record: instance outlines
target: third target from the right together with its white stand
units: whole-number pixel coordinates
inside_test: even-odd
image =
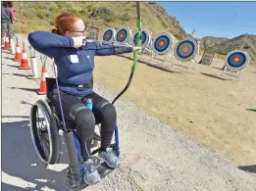
[[[174,63],[174,37],[168,32],[161,32],[152,41],[153,54],[149,64],[156,62],[161,67],[172,67]],[[171,64],[169,66],[168,64]]]

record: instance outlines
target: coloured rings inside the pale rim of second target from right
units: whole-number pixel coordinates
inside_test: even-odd
[[[190,40],[184,40],[181,43],[179,43],[177,47],[177,55],[181,59],[187,59],[191,57],[194,54],[195,47],[194,43]]]

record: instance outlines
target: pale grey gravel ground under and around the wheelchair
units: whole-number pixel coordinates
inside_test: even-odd
[[[19,70],[20,63],[8,58],[13,56],[2,53],[2,188],[70,190],[65,184],[68,161],[64,145],[61,162],[54,166],[44,166],[32,146],[29,110],[31,104],[45,97],[34,92],[39,80],[27,79],[30,71]],[[48,59],[48,74],[52,76],[51,63]],[[116,96],[97,84],[95,91],[109,100]],[[166,122],[146,115],[128,100],[119,100],[116,108],[122,166],[86,190],[256,190],[253,174]]]

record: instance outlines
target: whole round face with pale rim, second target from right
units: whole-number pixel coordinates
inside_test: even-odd
[[[181,62],[194,59],[198,51],[198,44],[192,37],[185,37],[179,41],[175,48],[175,56]]]

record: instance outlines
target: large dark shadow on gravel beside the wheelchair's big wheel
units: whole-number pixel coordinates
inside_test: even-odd
[[[53,165],[49,169],[42,164],[36,156],[30,136],[29,121],[2,122],[2,187],[3,190],[41,190],[49,188],[54,190],[77,190],[71,189],[66,184],[68,155],[63,138],[61,171],[54,170]],[[62,164],[62,165],[61,165]],[[15,181],[8,182],[5,174],[26,181],[26,187],[18,187]],[[12,183],[14,182],[14,183]],[[9,184],[10,183],[10,184]],[[24,184],[24,182],[22,183]],[[35,185],[35,186],[34,186]]]

